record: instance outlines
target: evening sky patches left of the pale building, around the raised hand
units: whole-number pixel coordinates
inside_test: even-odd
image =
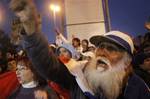
[[[42,32],[48,37],[49,42],[55,41],[53,13],[49,10],[50,0],[34,0],[39,13],[42,16]],[[12,11],[9,9],[10,0],[0,0],[0,12],[3,15],[3,20],[0,22],[0,29],[4,30],[7,34],[11,32],[10,23],[15,17]],[[57,28],[61,27],[61,13],[56,14]]]

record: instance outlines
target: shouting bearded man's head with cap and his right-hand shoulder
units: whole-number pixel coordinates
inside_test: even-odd
[[[120,31],[111,31],[90,39],[96,57],[86,66],[84,74],[95,95],[106,99],[148,99],[147,85],[133,73],[133,42]],[[138,95],[137,95],[138,94]]]

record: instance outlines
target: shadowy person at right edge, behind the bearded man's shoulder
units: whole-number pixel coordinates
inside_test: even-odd
[[[141,50],[135,54],[134,67],[135,73],[139,75],[150,88],[150,42],[146,41],[141,45]]]

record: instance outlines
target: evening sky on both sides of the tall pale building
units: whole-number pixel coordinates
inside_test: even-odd
[[[9,9],[10,0],[0,0],[0,28],[10,33],[10,23],[15,17]],[[150,0],[108,0],[112,30],[127,32],[132,36],[143,35],[146,30],[144,22],[150,15]],[[54,24],[52,12],[48,9],[50,0],[35,0],[39,13],[42,15],[42,31],[49,42],[54,42]],[[57,14],[57,25],[60,27],[61,14]]]

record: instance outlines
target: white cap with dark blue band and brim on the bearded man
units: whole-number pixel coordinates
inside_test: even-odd
[[[134,44],[132,38],[120,31],[110,31],[103,35],[96,35],[90,38],[90,42],[98,46],[101,42],[113,42],[123,47],[129,54],[133,54]]]

